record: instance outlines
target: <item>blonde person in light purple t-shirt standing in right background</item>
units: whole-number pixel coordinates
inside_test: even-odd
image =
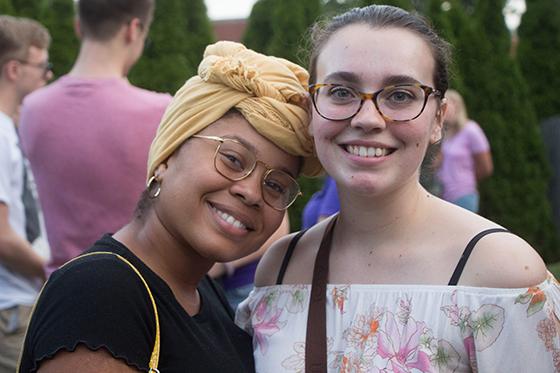
[[[446,98],[446,132],[438,171],[442,198],[478,212],[477,183],[493,172],[490,145],[480,126],[468,118],[465,102],[459,92],[448,90]]]

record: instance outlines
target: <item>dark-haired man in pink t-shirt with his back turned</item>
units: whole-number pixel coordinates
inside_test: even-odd
[[[28,97],[22,144],[45,215],[47,273],[130,221],[148,149],[171,100],[131,85],[155,0],[79,0],[72,70]]]

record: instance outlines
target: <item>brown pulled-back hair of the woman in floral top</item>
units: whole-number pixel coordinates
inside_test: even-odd
[[[370,5],[363,8],[354,8],[331,19],[315,23],[311,28],[310,35],[310,83],[316,83],[317,59],[325,44],[338,30],[354,24],[369,25],[373,29],[402,28],[413,32],[425,40],[430,46],[435,60],[435,88],[445,93],[449,87],[449,63],[451,59],[449,43],[443,40],[422,16],[389,5]]]

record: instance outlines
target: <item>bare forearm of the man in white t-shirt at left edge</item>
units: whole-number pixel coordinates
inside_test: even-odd
[[[45,262],[11,227],[8,206],[0,202],[0,262],[23,276],[45,280]]]

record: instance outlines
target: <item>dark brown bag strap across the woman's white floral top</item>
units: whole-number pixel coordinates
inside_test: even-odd
[[[327,372],[327,279],[332,235],[337,218],[338,216],[332,218],[325,229],[315,258],[309,312],[307,314],[305,373]]]

